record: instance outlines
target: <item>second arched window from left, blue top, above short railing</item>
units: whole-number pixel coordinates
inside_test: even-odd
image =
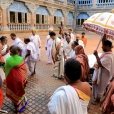
[[[45,6],[39,6],[36,11],[36,24],[49,24],[49,12]]]

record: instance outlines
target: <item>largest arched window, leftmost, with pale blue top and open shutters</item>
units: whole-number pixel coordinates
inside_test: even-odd
[[[23,2],[14,1],[7,12],[8,23],[30,23],[30,13]]]

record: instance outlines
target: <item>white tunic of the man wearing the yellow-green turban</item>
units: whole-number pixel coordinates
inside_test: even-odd
[[[39,55],[40,54],[40,48],[41,47],[41,40],[40,40],[40,36],[39,35],[32,35],[30,37],[31,42],[33,42],[35,44],[35,48],[36,48],[36,52]]]

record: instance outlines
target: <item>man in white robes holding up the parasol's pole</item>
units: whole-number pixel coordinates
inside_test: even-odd
[[[114,76],[114,54],[112,53],[112,42],[109,40],[103,41],[102,49],[104,53],[101,57],[98,56],[97,51],[94,52],[97,64],[94,65],[95,71],[92,78],[93,96],[95,98],[93,104],[98,104],[100,102],[110,79]]]

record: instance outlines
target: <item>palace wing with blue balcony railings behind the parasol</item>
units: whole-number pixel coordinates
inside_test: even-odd
[[[114,0],[76,0],[76,27],[82,28],[83,22],[91,15],[100,12],[111,12]]]

